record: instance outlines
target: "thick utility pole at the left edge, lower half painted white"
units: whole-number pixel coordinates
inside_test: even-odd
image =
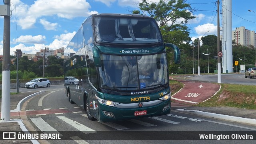
[[[7,6],[4,14],[4,37],[3,37],[3,72],[2,72],[2,121],[10,121],[10,0],[4,0]],[[4,5],[4,6],[5,6]],[[9,10],[8,10],[9,8]],[[1,15],[2,16],[2,15]]]

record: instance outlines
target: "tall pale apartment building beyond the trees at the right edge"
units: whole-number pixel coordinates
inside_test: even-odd
[[[232,31],[233,41],[236,45],[244,45],[249,47],[250,45],[256,47],[256,34],[255,31],[247,30],[244,26],[236,28]]]

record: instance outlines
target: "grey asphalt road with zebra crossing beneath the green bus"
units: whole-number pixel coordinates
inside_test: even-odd
[[[206,118],[177,110],[171,110],[168,115],[137,120],[104,123],[90,121],[86,118],[84,110],[68,101],[62,85],[40,89],[45,93],[29,100],[25,107],[26,115],[22,120],[29,131],[60,133],[64,136],[62,138],[68,139],[48,141],[51,144],[215,144],[220,141],[191,139],[198,136],[197,132],[204,134],[218,131],[219,134],[226,134],[230,131],[235,134],[237,131],[256,131],[254,125]],[[246,144],[254,141],[224,140],[221,142]]]

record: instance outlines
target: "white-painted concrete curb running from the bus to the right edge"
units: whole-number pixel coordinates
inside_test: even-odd
[[[218,118],[218,119],[222,119],[222,120],[230,120],[230,121],[234,121],[234,122],[242,122],[242,123],[246,123],[246,124],[255,124],[256,125],[256,120],[251,119],[251,118],[242,118],[242,117],[238,117],[238,116],[215,114],[215,113],[203,112],[203,111],[199,111],[199,110],[177,109],[176,111],[189,112],[191,114],[206,116],[206,117],[210,117],[210,118]]]

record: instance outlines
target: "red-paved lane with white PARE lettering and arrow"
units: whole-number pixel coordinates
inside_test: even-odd
[[[175,103],[184,103],[189,105],[198,104],[214,96],[220,89],[220,85],[214,83],[186,80],[177,81],[184,83],[184,87],[172,95],[171,99]]]

